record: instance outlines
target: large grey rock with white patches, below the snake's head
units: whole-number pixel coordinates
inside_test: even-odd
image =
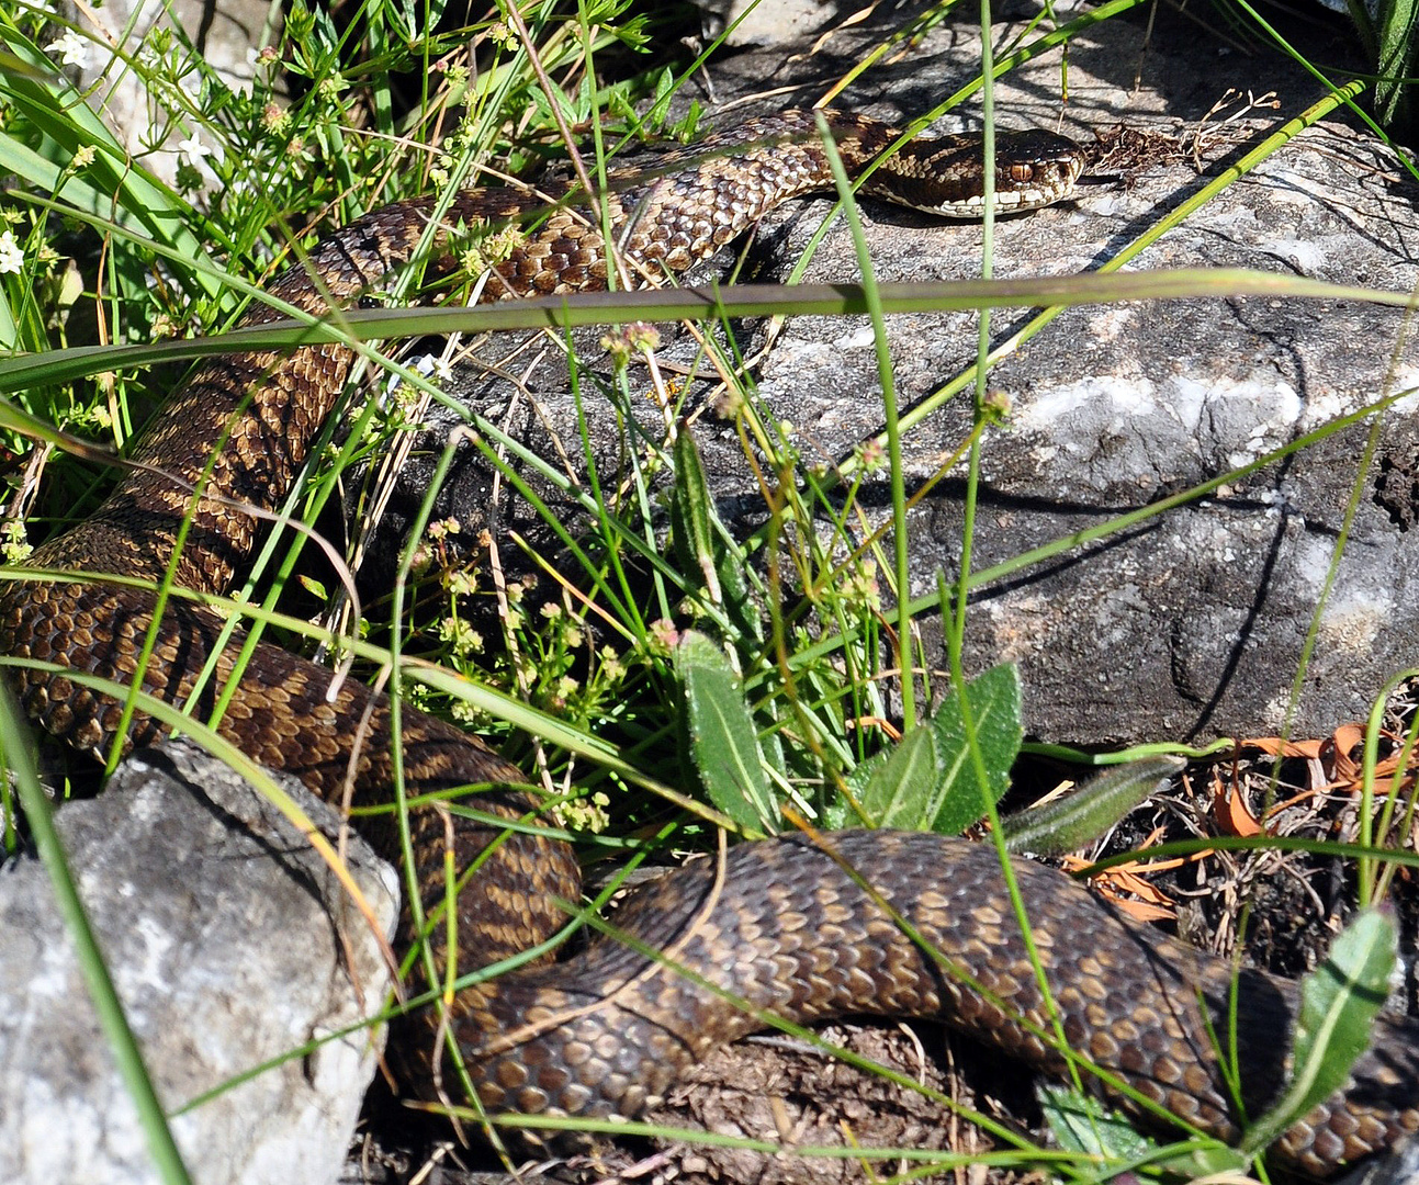
[[[1357,165],[1365,162],[1365,167]],[[1419,280],[1403,247],[1412,207],[1382,179],[1386,149],[1345,128],[1315,128],[1232,186],[1139,258],[1137,267],[1249,267],[1408,291]],[[1374,172],[1366,172],[1372,169]],[[1067,274],[1107,257],[1110,243],[1147,226],[1149,211],[1196,184],[1171,166],[1135,189],[1087,192],[1073,209],[1009,224],[1000,274]],[[789,237],[792,257],[802,238]],[[922,278],[922,257],[969,274],[948,243],[979,231],[922,227],[908,253],[898,228],[868,230],[883,280]],[[937,244],[937,246],[931,246]],[[827,261],[816,260],[807,278]],[[1002,311],[996,341],[1025,324]],[[966,365],[965,315],[894,318],[893,353],[907,399]],[[1250,465],[1297,437],[1415,380],[1410,359],[1389,370],[1403,315],[1374,305],[1223,298],[1074,308],[990,373],[1013,414],[985,441],[973,569],[1098,527],[1171,494]],[[761,396],[823,458],[877,431],[874,359],[863,326],[797,319],[769,356]],[[858,400],[819,392],[858,390]],[[1379,463],[1410,468],[1409,402],[1385,417]],[[907,439],[908,484],[931,478],[966,439],[956,399]],[[1406,534],[1412,491],[1376,501],[1376,467],[1361,475],[1365,427],[1340,430],[1215,494],[982,588],[968,626],[969,666],[1020,663],[1026,722],[1074,742],[1273,734],[1287,697],[1357,481],[1361,505],[1337,583],[1318,622],[1320,644],[1290,727],[1305,735],[1362,718],[1408,640],[1385,630],[1416,605],[1416,552]],[[956,467],[952,478],[964,475]],[[1379,504],[1384,501],[1384,504]],[[959,481],[914,514],[914,595],[954,573],[962,538]],[[885,509],[873,515],[885,518]],[[929,637],[931,623],[927,623]]]

